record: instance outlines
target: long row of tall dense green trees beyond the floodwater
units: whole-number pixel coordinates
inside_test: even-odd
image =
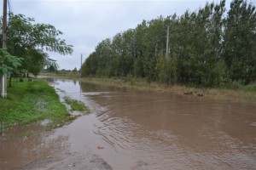
[[[170,26],[166,52],[166,28]],[[167,57],[166,57],[167,54]],[[84,77],[143,77],[207,87],[256,80],[256,10],[246,0],[207,3],[160,16],[107,38],[82,66]]]

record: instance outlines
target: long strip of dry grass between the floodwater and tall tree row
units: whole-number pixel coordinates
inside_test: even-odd
[[[157,91],[160,93],[184,94],[192,92],[195,96],[203,94],[207,99],[230,100],[238,102],[256,102],[256,84],[241,86],[233,84],[231,87],[222,88],[192,88],[181,85],[168,86],[157,82],[148,83],[145,79],[135,77],[119,78],[96,78],[96,77],[56,77],[62,79],[73,79],[81,82],[92,82],[115,87],[136,88],[139,90]]]

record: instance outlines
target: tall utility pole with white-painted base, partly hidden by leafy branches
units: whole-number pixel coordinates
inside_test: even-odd
[[[7,0],[3,0],[3,38],[2,38],[2,49],[6,50],[6,31],[7,31]],[[4,65],[4,63],[3,63]],[[6,88],[6,74],[2,76],[2,93],[3,98],[7,97]]]

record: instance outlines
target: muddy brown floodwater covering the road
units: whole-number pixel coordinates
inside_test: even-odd
[[[2,137],[0,169],[26,169],[63,150],[55,167],[44,161],[43,167],[36,163],[31,169],[71,168],[72,158],[63,158],[67,150],[69,155],[85,153],[84,159],[96,154],[113,169],[256,169],[255,104],[76,81],[51,83],[61,98],[89,105],[91,114],[52,132]],[[20,133],[20,127],[14,131]],[[96,169],[84,166],[73,169]]]

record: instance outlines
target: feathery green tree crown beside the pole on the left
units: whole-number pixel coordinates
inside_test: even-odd
[[[2,20],[0,26],[3,26]],[[73,52],[72,46],[67,45],[65,40],[59,37],[62,34],[55,29],[55,26],[35,23],[34,19],[27,18],[23,14],[9,14],[6,50],[10,55],[22,59],[21,65],[13,67],[12,73],[21,74],[27,71],[37,76],[44,66],[56,70],[58,65],[46,52],[59,54]],[[0,40],[2,41],[1,34]]]

